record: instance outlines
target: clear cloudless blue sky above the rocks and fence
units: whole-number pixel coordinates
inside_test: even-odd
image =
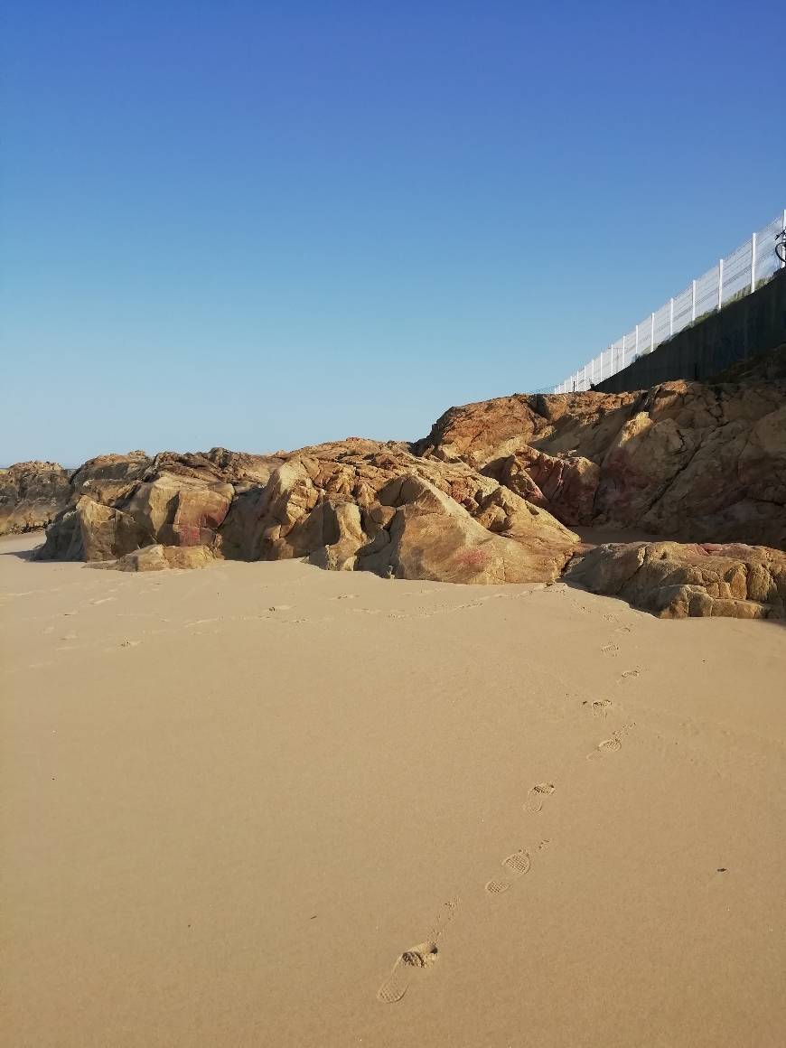
[[[786,206],[783,0],[0,7],[0,463],[416,438]]]

